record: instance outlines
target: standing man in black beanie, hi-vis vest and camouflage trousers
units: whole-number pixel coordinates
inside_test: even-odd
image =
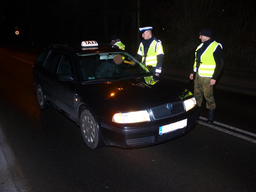
[[[199,38],[202,43],[196,48],[196,59],[189,78],[192,80],[196,75],[194,80],[196,104],[201,107],[204,95],[206,108],[209,109],[207,123],[212,124],[216,108],[213,85],[223,68],[223,51],[222,45],[212,39],[212,31],[209,28],[202,29]]]

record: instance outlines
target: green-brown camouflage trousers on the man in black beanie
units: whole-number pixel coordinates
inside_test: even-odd
[[[203,96],[206,100],[207,109],[215,109],[215,101],[213,97],[213,86],[210,86],[211,77],[201,77],[196,72],[194,96],[198,106],[202,105]]]

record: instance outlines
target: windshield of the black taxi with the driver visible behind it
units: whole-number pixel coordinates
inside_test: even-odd
[[[151,70],[126,52],[80,54],[78,62],[83,81],[149,76]]]

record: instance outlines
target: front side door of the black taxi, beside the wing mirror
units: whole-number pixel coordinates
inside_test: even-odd
[[[73,65],[73,59],[70,54],[63,53],[60,64],[58,67],[57,75],[70,74],[73,81],[60,81],[59,78],[56,80],[54,99],[55,104],[62,110],[66,111],[69,115],[75,117],[75,89],[76,89],[76,77]]]

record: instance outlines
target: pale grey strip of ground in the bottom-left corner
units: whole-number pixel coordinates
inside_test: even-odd
[[[15,158],[0,125],[0,191],[29,191],[18,160]]]

